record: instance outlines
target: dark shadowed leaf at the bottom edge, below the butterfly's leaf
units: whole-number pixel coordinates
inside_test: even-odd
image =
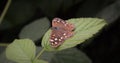
[[[76,48],[57,52],[50,63],[92,63],[86,54]]]

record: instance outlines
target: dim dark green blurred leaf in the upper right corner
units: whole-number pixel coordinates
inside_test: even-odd
[[[104,18],[108,23],[112,23],[117,20],[120,16],[120,0],[112,3],[109,6],[105,6],[96,16]]]

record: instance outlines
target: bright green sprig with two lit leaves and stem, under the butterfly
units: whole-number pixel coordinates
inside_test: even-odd
[[[40,49],[40,52],[38,52],[37,55],[36,46],[32,40],[15,39],[13,43],[8,45],[6,48],[7,58],[18,63],[48,63],[41,58],[44,51],[47,51],[48,53],[52,52],[54,55],[56,52],[75,47],[76,45],[83,43],[86,39],[91,38],[106,24],[105,20],[98,18],[74,18],[67,21],[75,25],[75,34],[73,37],[65,40],[58,48],[52,48],[49,44],[49,37],[51,33],[51,29],[49,29],[42,39],[42,49]]]

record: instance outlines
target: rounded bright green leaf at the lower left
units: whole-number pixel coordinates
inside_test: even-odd
[[[32,40],[16,39],[6,48],[6,56],[9,60],[19,63],[31,63],[35,58],[36,46]]]

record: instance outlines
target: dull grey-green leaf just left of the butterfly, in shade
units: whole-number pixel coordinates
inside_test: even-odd
[[[30,38],[33,41],[40,39],[50,27],[50,22],[47,18],[35,20],[31,24],[25,26],[19,34],[20,38]]]

